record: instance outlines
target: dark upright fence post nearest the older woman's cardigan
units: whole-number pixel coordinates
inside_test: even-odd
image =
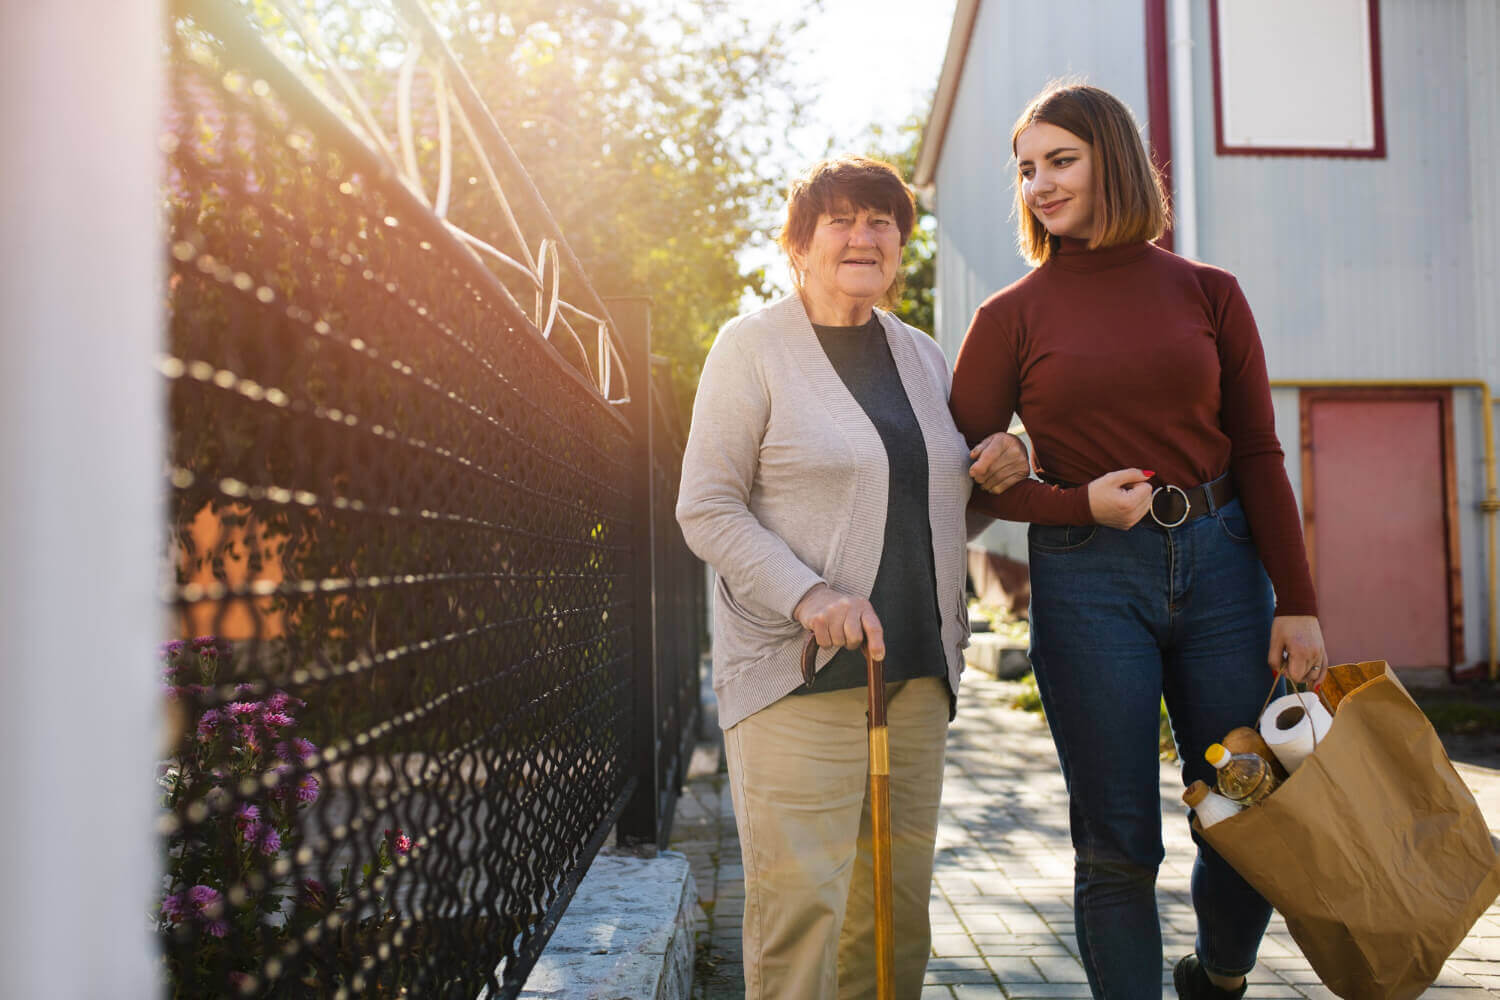
[[[626,376],[630,379],[630,403],[626,415],[633,432],[630,468],[630,511],[633,553],[630,610],[633,637],[630,664],[630,768],[636,777],[636,792],[620,814],[616,837],[622,844],[657,844],[662,835],[662,768],[660,768],[660,676],[657,673],[656,636],[656,456],[651,450],[651,300],[642,295],[606,298],[609,313],[626,345]]]

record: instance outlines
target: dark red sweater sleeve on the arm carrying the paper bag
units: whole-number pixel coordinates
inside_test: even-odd
[[[1230,474],[1245,507],[1276,615],[1317,615],[1296,498],[1276,439],[1266,354],[1250,303],[1233,277],[1216,297],[1220,421],[1230,439]]]

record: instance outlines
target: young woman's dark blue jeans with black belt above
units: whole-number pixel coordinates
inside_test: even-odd
[[[1270,690],[1274,601],[1239,501],[1178,528],[1030,528],[1030,658],[1068,783],[1074,918],[1095,997],[1161,996],[1160,705],[1182,780],[1254,726]],[[1194,837],[1197,840],[1197,837]],[[1198,960],[1256,964],[1270,906],[1212,847],[1192,867]]]

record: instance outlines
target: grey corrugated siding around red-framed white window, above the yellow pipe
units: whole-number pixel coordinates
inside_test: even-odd
[[[1198,253],[1239,277],[1272,378],[1479,373],[1466,6],[1380,4],[1388,156],[1346,159],[1215,154],[1194,4]]]

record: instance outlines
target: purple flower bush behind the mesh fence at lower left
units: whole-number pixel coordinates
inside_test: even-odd
[[[165,643],[160,658],[178,733],[158,775],[172,819],[153,918],[177,945],[166,949],[174,994],[285,993],[258,978],[266,960],[330,913],[354,909],[366,916],[344,924],[342,940],[306,963],[300,982],[282,984],[314,993],[340,985],[357,964],[357,939],[396,916],[378,880],[411,852],[411,838],[387,829],[375,856],[358,873],[345,865],[332,885],[296,877],[297,813],[322,792],[308,772],[318,747],[297,735],[306,705],[264,685],[225,684],[231,648],[214,636]]]

